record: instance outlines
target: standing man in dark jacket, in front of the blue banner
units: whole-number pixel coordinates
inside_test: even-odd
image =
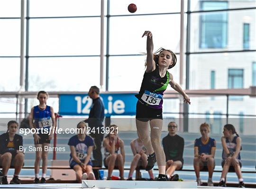
[[[105,108],[103,101],[100,97],[100,89],[98,87],[91,86],[88,95],[92,99],[92,105],[89,113],[89,118],[85,119],[84,122],[88,123],[89,127],[91,128],[90,135],[94,139],[95,148],[92,151],[92,155],[95,161],[93,162],[93,165],[96,167],[101,167],[101,143],[104,137],[104,127],[102,125],[102,122],[105,117]]]

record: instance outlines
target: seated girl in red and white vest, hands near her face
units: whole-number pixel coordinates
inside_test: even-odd
[[[111,180],[111,176],[114,168],[119,169],[120,180],[125,180],[124,179],[124,162],[125,162],[124,142],[118,137],[117,127],[118,126],[116,125],[111,125],[110,134],[108,134],[103,140],[103,146],[105,148],[105,153],[104,153],[105,158],[103,162],[104,162],[104,166],[108,169],[107,180]]]

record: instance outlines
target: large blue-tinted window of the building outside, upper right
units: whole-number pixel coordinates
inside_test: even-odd
[[[227,1],[201,1],[201,10],[213,7],[227,9]],[[225,48],[228,37],[228,13],[218,12],[200,16],[200,48]]]

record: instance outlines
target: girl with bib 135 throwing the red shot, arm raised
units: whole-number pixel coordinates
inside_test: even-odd
[[[150,31],[145,31],[146,40],[146,71],[143,76],[136,107],[136,126],[142,143],[149,153],[146,171],[153,169],[157,162],[158,180],[165,181],[165,153],[161,147],[161,132],[163,126],[162,105],[163,95],[170,84],[171,87],[183,95],[184,102],[190,104],[189,96],[174,81],[173,75],[167,71],[174,67],[177,58],[171,50],[160,48],[153,53],[153,37]],[[149,136],[148,123],[151,128]]]

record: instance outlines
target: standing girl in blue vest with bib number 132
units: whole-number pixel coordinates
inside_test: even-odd
[[[47,171],[47,160],[48,151],[45,151],[45,146],[49,147],[50,141],[53,138],[53,129],[55,128],[55,115],[53,107],[47,106],[46,101],[49,95],[46,91],[39,91],[37,93],[37,99],[39,100],[39,105],[31,109],[29,115],[29,125],[30,128],[35,128],[38,130],[38,134],[34,134],[34,143],[36,149],[42,149],[36,151],[36,161],[35,161],[35,180],[34,183],[39,183],[39,169],[40,161],[43,160],[42,164],[42,178],[40,183],[46,183],[46,171]],[[51,121],[52,119],[52,121]],[[33,123],[34,120],[34,123]],[[51,124],[52,123],[52,124]]]

